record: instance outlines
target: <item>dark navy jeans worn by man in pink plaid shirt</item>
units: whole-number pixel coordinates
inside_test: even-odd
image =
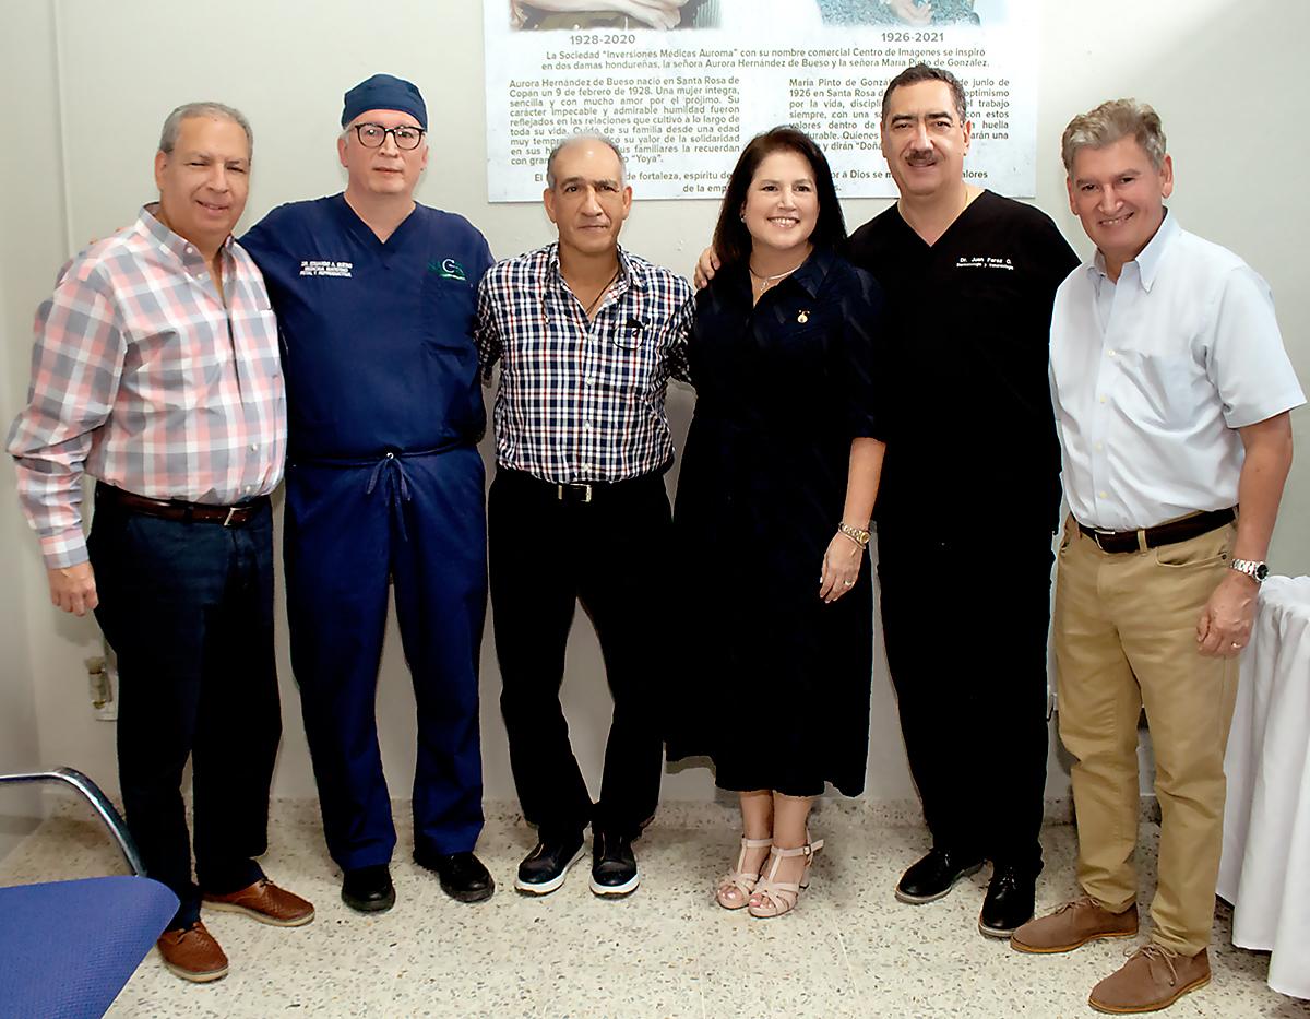
[[[241,528],[160,520],[98,500],[88,541],[96,618],[118,655],[118,777],[145,871],[177,893],[259,880],[282,736],[272,650],[272,512]],[[191,758],[195,876],[182,803]]]

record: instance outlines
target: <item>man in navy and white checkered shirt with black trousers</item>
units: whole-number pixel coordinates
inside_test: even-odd
[[[664,390],[684,372],[692,289],[618,246],[633,191],[607,139],[557,147],[546,185],[558,242],[494,266],[478,291],[479,360],[486,373],[500,361],[487,507],[500,709],[540,837],[515,887],[559,888],[590,823],[592,892],[627,895],[639,881],[631,842],[655,813],[663,764],[650,695],[672,527]],[[578,599],[614,695],[595,807],[559,706]]]

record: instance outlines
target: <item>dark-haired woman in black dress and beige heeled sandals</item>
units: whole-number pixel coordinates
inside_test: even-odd
[[[824,783],[865,785],[882,295],[837,254],[845,237],[814,140],[758,135],[728,181],[722,269],[688,342],[697,402],[675,529],[703,707],[677,720],[669,757],[709,754],[740,794],[741,850],[717,899],[757,917],[790,912],[808,883]]]

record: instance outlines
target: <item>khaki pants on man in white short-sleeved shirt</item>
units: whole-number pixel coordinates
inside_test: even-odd
[[[1056,576],[1060,739],[1077,758],[1078,883],[1114,912],[1137,899],[1137,718],[1146,709],[1161,807],[1153,940],[1209,944],[1224,834],[1224,748],[1237,659],[1196,650],[1196,621],[1225,576],[1237,527],[1104,553],[1065,523]]]

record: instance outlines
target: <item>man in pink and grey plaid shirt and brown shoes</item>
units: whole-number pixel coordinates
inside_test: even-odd
[[[159,203],[69,262],[37,312],[29,401],[8,441],[51,601],[94,610],[118,654],[127,825],[147,874],[178,896],[159,948],[191,981],[228,971],[202,897],[276,926],[314,916],[254,859],[282,735],[269,492],[287,415],[269,295],[232,240],[250,149],[231,107],[169,115]],[[86,540],[84,474],[98,479]]]

